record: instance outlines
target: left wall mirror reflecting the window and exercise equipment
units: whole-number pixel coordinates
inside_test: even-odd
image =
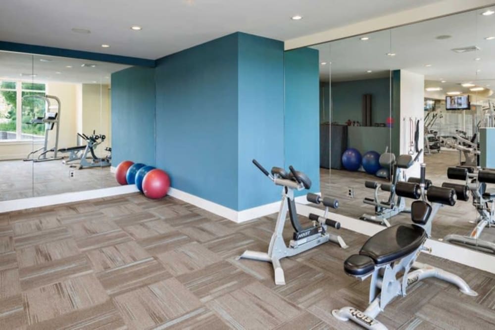
[[[111,83],[126,65],[0,52],[0,200],[117,185]]]

